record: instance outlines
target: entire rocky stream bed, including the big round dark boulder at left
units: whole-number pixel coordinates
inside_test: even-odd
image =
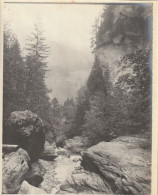
[[[13,113],[9,125],[19,139],[3,145],[3,194],[150,194],[149,137],[122,136],[89,148],[77,137],[56,148],[37,144],[44,127],[29,111]]]

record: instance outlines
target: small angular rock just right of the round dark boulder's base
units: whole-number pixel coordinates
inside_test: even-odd
[[[58,156],[54,146],[45,145],[44,151],[40,154],[40,159],[52,161]]]

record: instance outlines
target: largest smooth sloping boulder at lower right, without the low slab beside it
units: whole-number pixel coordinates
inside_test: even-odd
[[[101,142],[82,153],[82,165],[99,174],[114,194],[150,194],[151,151],[148,141],[122,137]],[[148,145],[148,144],[147,144]]]

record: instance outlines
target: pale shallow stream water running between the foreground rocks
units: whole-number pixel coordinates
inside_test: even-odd
[[[46,173],[44,181],[39,187],[47,193],[55,194],[75,168],[80,166],[79,158],[79,155],[73,155],[70,158],[59,155],[52,162],[42,160],[41,162],[46,169]]]

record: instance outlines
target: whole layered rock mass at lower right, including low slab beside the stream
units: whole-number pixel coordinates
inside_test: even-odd
[[[82,152],[85,170],[75,171],[61,192],[149,195],[151,155],[146,143],[122,137],[87,149]]]

